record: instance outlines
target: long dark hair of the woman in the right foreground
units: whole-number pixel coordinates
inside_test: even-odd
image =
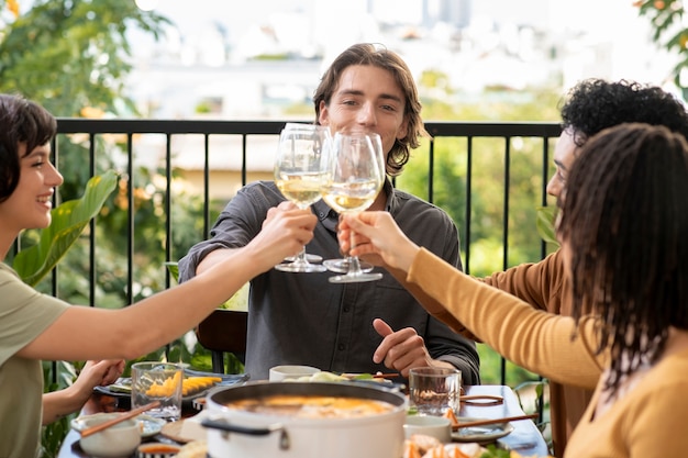
[[[581,148],[559,205],[574,319],[600,315],[606,383],[662,355],[688,329],[688,144],[664,126],[622,124]]]

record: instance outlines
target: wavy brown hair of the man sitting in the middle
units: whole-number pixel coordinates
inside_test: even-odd
[[[419,137],[429,137],[430,134],[425,131],[421,119],[421,102],[413,75],[403,59],[396,53],[370,43],[359,43],[340,54],[330,65],[320,80],[318,89],[315,89],[313,96],[315,122],[320,118],[320,102],[324,101],[326,105],[330,104],[342,72],[352,65],[373,65],[389,71],[403,91],[406,98],[403,115],[406,122],[409,123],[409,129],[406,137],[397,139],[387,156],[387,174],[392,177],[397,176],[401,174],[403,166],[409,161],[410,148],[418,148],[420,145]]]

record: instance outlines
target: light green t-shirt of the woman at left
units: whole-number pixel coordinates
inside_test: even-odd
[[[37,455],[43,414],[43,370],[16,351],[45,331],[67,303],[41,294],[0,262],[0,458]]]

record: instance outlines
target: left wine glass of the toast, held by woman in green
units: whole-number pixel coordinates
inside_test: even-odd
[[[287,123],[279,135],[275,185],[299,209],[308,209],[322,198],[329,177],[330,145],[330,131],[322,125]],[[309,262],[306,247],[293,261],[279,264],[275,268],[286,272],[328,270],[325,266]]]

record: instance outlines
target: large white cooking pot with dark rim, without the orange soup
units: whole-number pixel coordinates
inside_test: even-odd
[[[207,400],[210,458],[399,458],[403,455],[406,396],[377,383],[251,382],[213,391]],[[300,418],[229,409],[233,401],[275,394],[384,401],[385,413],[353,418]]]

